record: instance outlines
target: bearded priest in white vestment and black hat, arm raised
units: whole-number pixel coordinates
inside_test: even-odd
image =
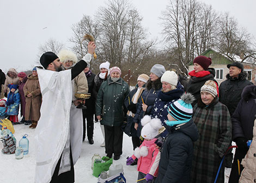
[[[38,69],[42,93],[41,117],[35,129],[35,183],[75,182],[74,165],[81,153],[82,111],[72,101],[72,82],[92,60],[95,43],[71,69],[62,71],[56,54],[46,52],[40,58],[46,70]]]

